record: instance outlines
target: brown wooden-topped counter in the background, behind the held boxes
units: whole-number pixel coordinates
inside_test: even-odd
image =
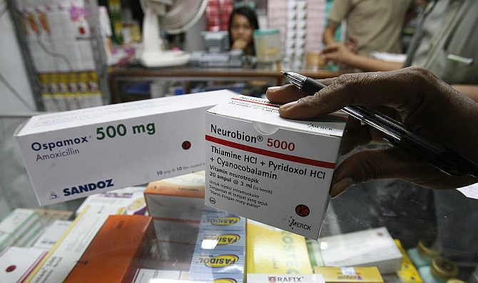
[[[301,73],[315,79],[340,74],[327,70]],[[259,96],[268,86],[284,83],[279,69],[145,68],[138,65],[113,69],[108,80],[113,103],[224,88]]]

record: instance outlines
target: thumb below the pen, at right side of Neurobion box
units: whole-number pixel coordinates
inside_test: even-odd
[[[332,198],[337,197],[352,184],[372,179],[415,180],[436,174],[437,169],[427,162],[422,162],[397,147],[370,149],[353,154],[335,169],[330,195]]]

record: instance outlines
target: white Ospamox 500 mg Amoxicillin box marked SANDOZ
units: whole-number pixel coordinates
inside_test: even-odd
[[[231,91],[32,117],[16,134],[39,204],[204,169],[205,111]]]

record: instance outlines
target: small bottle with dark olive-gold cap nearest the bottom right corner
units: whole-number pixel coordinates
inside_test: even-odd
[[[457,264],[444,257],[434,257],[432,264],[418,269],[424,283],[447,283],[458,274]]]

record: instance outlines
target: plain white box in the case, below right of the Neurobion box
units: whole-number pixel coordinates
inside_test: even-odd
[[[375,266],[388,274],[402,264],[402,254],[385,227],[324,237],[319,245],[325,266]]]

